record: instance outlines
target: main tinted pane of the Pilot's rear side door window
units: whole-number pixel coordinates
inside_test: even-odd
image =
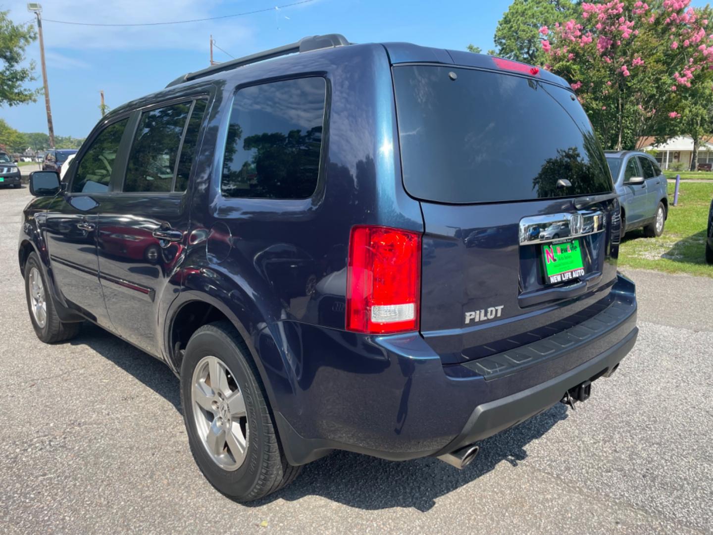
[[[129,153],[124,191],[170,191],[190,102],[141,114]]]

